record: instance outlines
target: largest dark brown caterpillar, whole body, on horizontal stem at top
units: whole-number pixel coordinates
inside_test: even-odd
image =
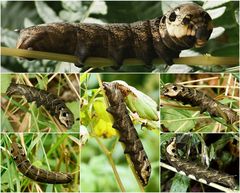
[[[199,5],[180,5],[164,16],[122,24],[52,23],[20,31],[17,48],[73,54],[78,67],[92,57],[113,59],[120,67],[126,58],[148,66],[156,57],[168,65],[184,49],[203,46],[212,33],[212,19]]]

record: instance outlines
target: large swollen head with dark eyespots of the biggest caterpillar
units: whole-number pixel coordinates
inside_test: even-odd
[[[160,29],[164,36],[184,48],[201,47],[209,39],[212,30],[212,19],[204,9],[193,3],[183,4],[169,11],[161,19],[165,30]]]

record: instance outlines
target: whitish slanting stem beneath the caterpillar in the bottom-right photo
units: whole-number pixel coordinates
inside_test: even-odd
[[[171,170],[171,171],[173,171],[173,172],[175,172],[175,173],[179,173],[179,172],[176,170],[176,168],[174,168],[174,167],[172,167],[172,166],[170,166],[170,165],[167,165],[167,164],[165,164],[165,163],[163,163],[163,162],[160,162],[160,166],[163,167],[163,168],[166,168],[166,169],[168,169],[168,170]],[[184,175],[184,176],[187,176],[187,175],[184,174],[184,173],[179,173],[179,174]],[[205,180],[202,180],[202,179],[197,180],[197,179],[194,178],[194,176],[191,176],[191,175],[189,175],[189,176],[187,176],[187,177],[190,178],[190,179],[192,179],[192,180],[195,180],[195,181],[198,181],[198,182],[200,182],[200,183],[203,183],[203,184],[206,184],[206,185],[208,185],[208,186],[211,186],[211,187],[213,187],[213,188],[216,188],[216,189],[218,189],[218,190],[224,191],[224,192],[229,192],[229,193],[237,192],[237,191],[234,191],[234,190],[232,190],[232,189],[229,189],[229,188],[226,188],[226,187],[224,187],[224,186],[221,186],[221,185],[219,185],[219,184],[213,183],[213,182],[210,182],[210,183],[208,184]]]

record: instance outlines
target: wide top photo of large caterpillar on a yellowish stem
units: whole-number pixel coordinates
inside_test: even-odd
[[[5,1],[2,67],[34,73],[238,71],[238,9],[238,1]]]

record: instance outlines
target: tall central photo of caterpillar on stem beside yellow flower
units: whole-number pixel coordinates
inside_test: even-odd
[[[81,74],[80,84],[81,191],[159,192],[159,75]]]

